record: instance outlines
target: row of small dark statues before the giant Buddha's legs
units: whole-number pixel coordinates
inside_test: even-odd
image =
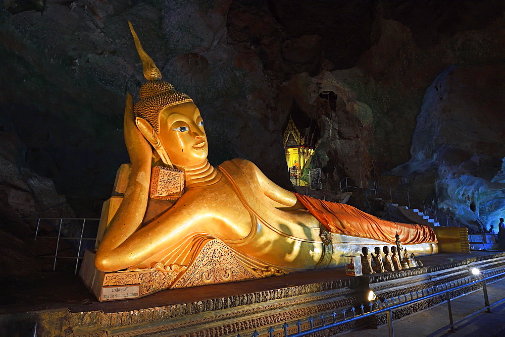
[[[382,250],[384,252],[384,258],[381,257],[380,247],[375,247],[375,255],[374,253],[371,253],[370,255],[372,255],[372,258],[370,258],[368,255],[368,248],[362,248],[363,254],[361,255],[361,265],[364,274],[409,269],[423,265],[421,260],[416,261],[414,253],[409,256],[407,248],[403,249],[403,257],[399,256],[396,246],[391,247],[391,254],[389,253],[388,246],[382,247]],[[372,260],[375,264],[374,266],[372,266]]]

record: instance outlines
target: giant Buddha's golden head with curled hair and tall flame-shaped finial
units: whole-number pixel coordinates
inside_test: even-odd
[[[128,24],[147,79],[134,106],[138,129],[168,166],[188,167],[205,162],[209,148],[200,111],[188,95],[161,81],[160,70]]]

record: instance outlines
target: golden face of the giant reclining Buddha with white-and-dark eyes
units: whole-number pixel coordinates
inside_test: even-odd
[[[161,111],[158,137],[176,166],[194,166],[207,159],[209,147],[203,120],[192,102],[168,106]]]

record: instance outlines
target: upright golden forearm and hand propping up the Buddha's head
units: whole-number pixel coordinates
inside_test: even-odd
[[[147,206],[152,150],[135,125],[130,94],[126,98],[124,135],[132,162],[130,180],[123,201],[96,251],[95,264],[100,270],[108,263],[110,253],[138,230]]]

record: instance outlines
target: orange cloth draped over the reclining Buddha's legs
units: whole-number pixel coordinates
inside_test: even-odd
[[[402,244],[437,242],[435,233],[428,226],[386,221],[349,205],[295,194],[331,233],[394,243],[398,232]]]

